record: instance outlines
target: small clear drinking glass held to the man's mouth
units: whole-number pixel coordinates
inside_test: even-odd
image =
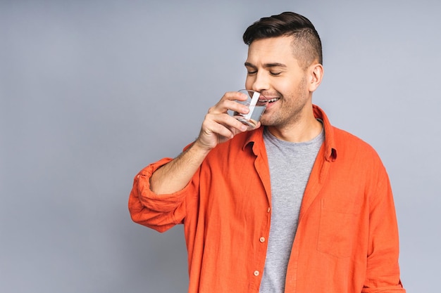
[[[247,100],[237,100],[237,103],[247,105],[249,108],[249,112],[247,114],[233,112],[232,116],[243,124],[254,128],[259,122],[263,112],[265,112],[268,100],[266,100],[265,97],[261,96],[258,91],[253,91],[251,89],[241,89],[239,90],[239,92],[246,94],[248,98]]]

